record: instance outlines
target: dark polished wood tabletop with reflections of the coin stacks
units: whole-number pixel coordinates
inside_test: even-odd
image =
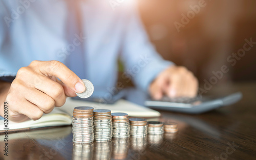
[[[163,112],[164,122],[177,122],[176,134],[115,139],[73,146],[71,126],[9,134],[9,156],[0,159],[255,159],[256,84],[214,87],[211,93],[242,91],[236,104],[201,115]]]

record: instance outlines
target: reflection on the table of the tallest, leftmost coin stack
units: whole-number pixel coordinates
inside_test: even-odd
[[[73,143],[73,160],[76,159],[92,159],[93,158],[93,148],[94,144],[86,143]]]

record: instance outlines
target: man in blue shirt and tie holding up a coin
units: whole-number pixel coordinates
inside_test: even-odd
[[[6,101],[13,121],[62,106],[86,90],[82,78],[112,88],[118,59],[122,78],[155,99],[197,93],[193,73],[157,54],[134,1],[0,0],[0,18],[0,115]]]

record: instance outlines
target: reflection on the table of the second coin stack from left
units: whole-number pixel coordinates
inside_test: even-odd
[[[94,143],[94,158],[93,159],[111,159],[111,141],[110,142],[95,142]]]

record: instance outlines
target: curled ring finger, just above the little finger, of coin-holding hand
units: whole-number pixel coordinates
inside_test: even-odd
[[[25,99],[38,106],[44,113],[52,112],[55,106],[55,100],[52,97],[35,88],[29,89]]]

